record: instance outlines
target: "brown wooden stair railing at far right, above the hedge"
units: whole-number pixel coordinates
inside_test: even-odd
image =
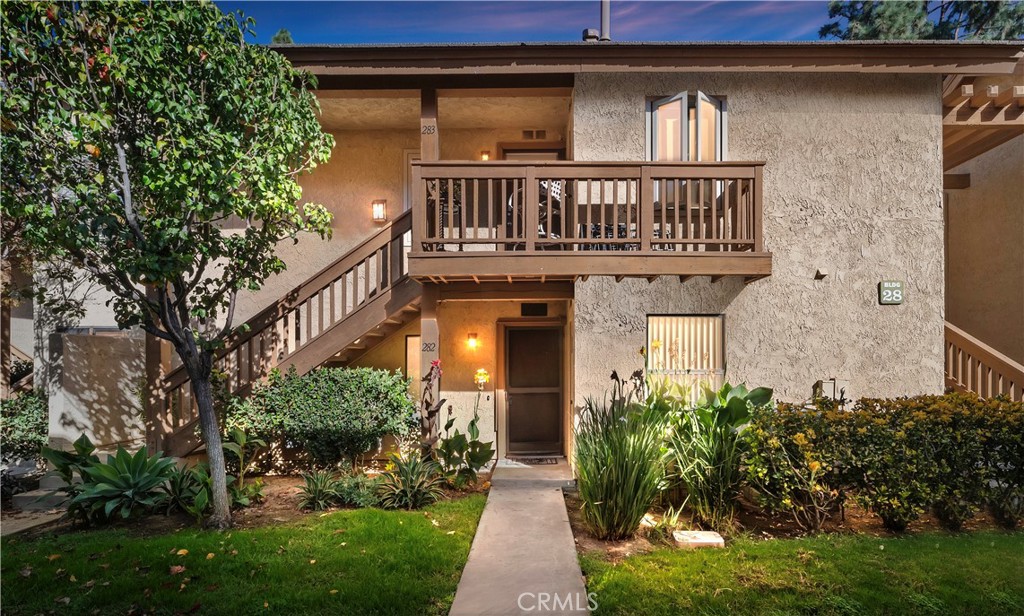
[[[956,325],[945,327],[946,387],[986,398],[1024,399],[1024,365],[999,353]]]

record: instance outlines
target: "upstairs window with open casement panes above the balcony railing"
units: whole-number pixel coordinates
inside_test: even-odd
[[[725,100],[703,92],[680,92],[647,103],[651,161],[724,161]]]

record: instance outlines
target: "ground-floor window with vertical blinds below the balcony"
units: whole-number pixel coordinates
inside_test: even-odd
[[[718,389],[725,378],[725,317],[647,316],[647,373],[690,389]]]

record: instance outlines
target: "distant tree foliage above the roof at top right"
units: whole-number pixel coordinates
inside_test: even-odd
[[[835,20],[818,31],[823,39],[1009,40],[1024,37],[1024,3],[1018,1],[831,0],[828,17]]]

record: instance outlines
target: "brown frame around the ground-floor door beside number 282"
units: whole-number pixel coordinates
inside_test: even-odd
[[[566,340],[565,340],[565,319],[562,317],[521,317],[498,319],[497,322],[497,375],[495,377],[495,429],[498,431],[498,459],[508,457],[509,454],[509,416],[508,416],[508,389],[506,386],[508,369],[508,356],[506,348],[506,336],[509,329],[537,329],[551,328],[558,329],[558,355],[561,362],[559,370],[558,385],[561,390],[560,404],[561,416],[559,417],[558,454],[567,455],[566,446],[568,436],[566,435],[566,416],[568,409],[568,384],[565,382]]]

